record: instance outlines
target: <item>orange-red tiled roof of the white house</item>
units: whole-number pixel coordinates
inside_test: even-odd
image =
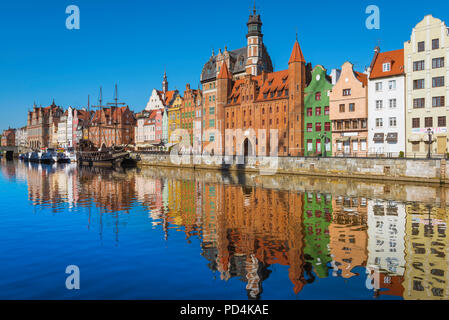
[[[391,77],[404,74],[404,49],[380,52],[376,55],[370,79]],[[383,71],[383,64],[390,62],[390,71]]]

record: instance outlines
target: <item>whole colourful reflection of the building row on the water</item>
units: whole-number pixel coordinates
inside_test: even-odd
[[[2,173],[25,175],[29,199],[55,212],[96,206],[100,217],[109,213],[117,235],[120,215],[140,206],[166,239],[171,229],[182,230],[188,241],[198,237],[208,267],[222,280],[240,279],[251,299],[261,296],[273,265],[288,268],[295,294],[316,278],[365,277],[354,270],[362,267],[378,270],[377,295],[449,298],[448,212],[435,205],[429,216],[421,204],[214,183],[195,175],[181,180],[144,170],[19,164],[2,166]]]

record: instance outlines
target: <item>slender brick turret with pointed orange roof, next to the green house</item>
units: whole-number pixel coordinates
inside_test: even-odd
[[[300,156],[304,152],[304,89],[306,88],[306,61],[298,39],[288,61],[289,91],[289,154]]]

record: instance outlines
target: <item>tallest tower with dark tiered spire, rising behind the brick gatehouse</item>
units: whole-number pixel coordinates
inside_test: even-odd
[[[260,15],[256,14],[256,5],[254,4],[253,14],[249,16],[247,39],[247,60],[246,60],[246,74],[252,74],[257,76],[262,72],[262,47],[263,47],[263,34],[262,34],[262,20]]]

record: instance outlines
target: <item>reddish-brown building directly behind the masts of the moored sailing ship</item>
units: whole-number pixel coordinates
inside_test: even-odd
[[[97,147],[134,144],[135,123],[134,113],[128,106],[102,107],[92,118],[90,140]]]

